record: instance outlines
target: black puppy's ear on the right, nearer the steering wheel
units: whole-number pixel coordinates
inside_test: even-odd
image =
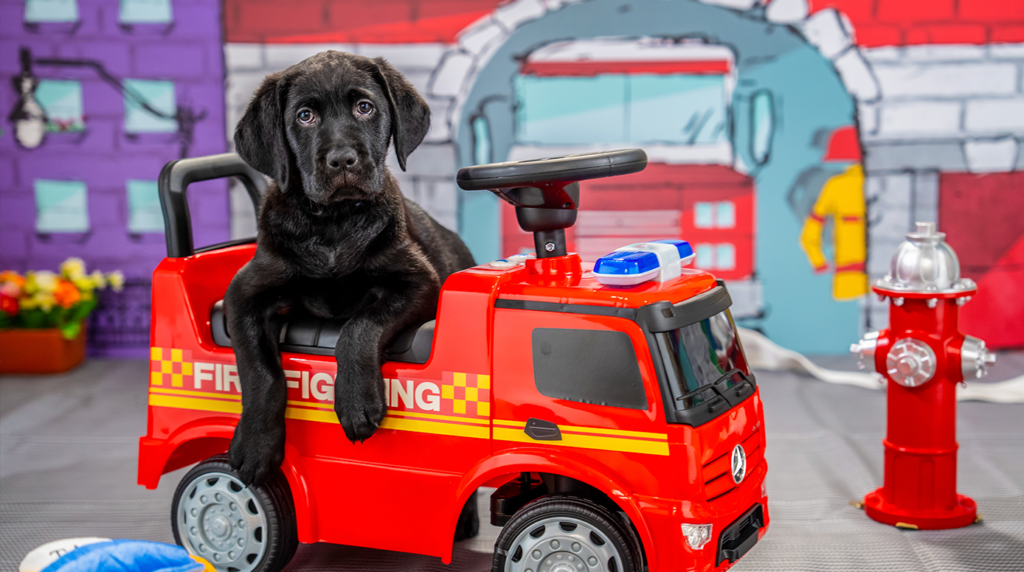
[[[375,74],[391,112],[391,138],[398,166],[406,170],[406,158],[418,147],[430,129],[430,107],[406,78],[384,60],[374,59]]]

